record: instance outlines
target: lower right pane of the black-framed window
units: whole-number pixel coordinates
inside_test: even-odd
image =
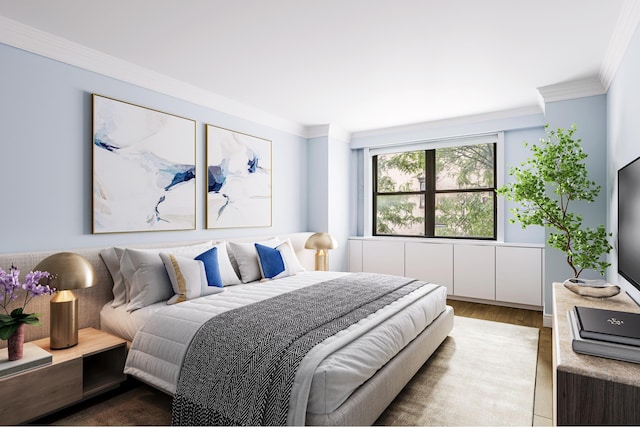
[[[489,191],[436,194],[436,236],[494,238]]]

